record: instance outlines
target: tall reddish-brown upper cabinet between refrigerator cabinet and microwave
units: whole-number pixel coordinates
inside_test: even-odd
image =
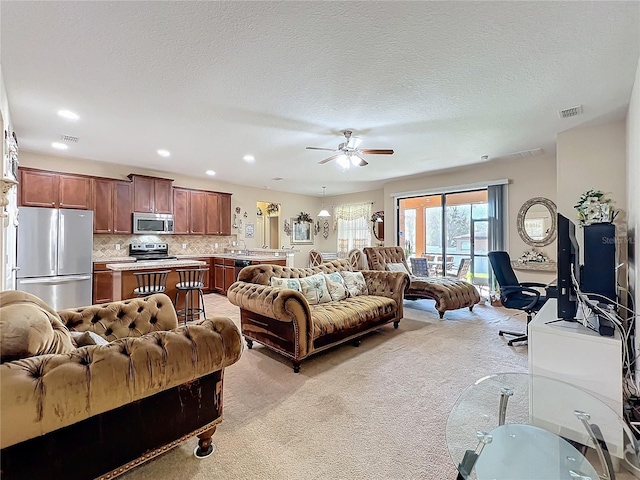
[[[131,233],[131,182],[93,179],[93,233]]]

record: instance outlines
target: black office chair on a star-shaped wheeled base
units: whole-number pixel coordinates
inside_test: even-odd
[[[511,258],[509,258],[507,252],[489,252],[489,261],[500,285],[500,301],[502,305],[506,308],[527,312],[528,326],[531,318],[533,318],[533,313],[542,308],[547,301],[547,297],[554,296],[553,291],[543,283],[518,282],[518,277],[516,277],[513,268],[511,268]],[[542,287],[545,289],[546,294],[540,295],[540,292],[532,287]],[[498,335],[513,335],[515,338],[507,342],[509,346],[513,346],[514,342],[526,342],[528,339],[526,332],[500,330]]]

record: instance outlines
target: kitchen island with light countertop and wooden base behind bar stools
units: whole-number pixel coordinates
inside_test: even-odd
[[[176,284],[179,282],[177,270],[183,268],[208,268],[207,262],[199,260],[153,260],[147,262],[122,262],[107,263],[106,268],[112,271],[113,301],[136,298],[133,290],[138,286],[134,273],[144,271],[169,270],[167,276],[166,294],[174,301],[176,296]],[[183,308],[184,298],[181,296],[176,309]]]

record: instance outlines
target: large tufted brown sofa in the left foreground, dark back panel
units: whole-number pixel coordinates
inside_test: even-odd
[[[76,347],[69,331],[105,345]],[[169,297],[54,312],[0,292],[3,480],[108,479],[198,435],[213,452],[224,368],[242,353],[225,317],[178,327]]]

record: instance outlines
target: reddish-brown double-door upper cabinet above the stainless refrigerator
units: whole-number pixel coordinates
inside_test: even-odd
[[[21,168],[19,205],[90,210],[91,183],[82,175]]]

